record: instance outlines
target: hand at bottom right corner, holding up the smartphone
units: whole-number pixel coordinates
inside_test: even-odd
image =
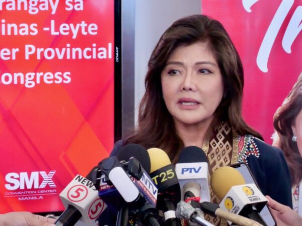
[[[268,199],[268,205],[271,209],[273,216],[277,221],[278,226],[296,226],[302,225],[302,217],[294,210],[286,205],[275,201],[268,195],[265,196]]]

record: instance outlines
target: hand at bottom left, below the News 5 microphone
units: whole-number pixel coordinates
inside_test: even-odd
[[[35,215],[31,212],[9,212],[0,214],[1,226],[54,226],[55,219]]]

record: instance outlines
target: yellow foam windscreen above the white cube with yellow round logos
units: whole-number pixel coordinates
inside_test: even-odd
[[[231,166],[220,167],[211,176],[211,187],[219,199],[222,199],[231,187],[242,184],[246,184],[245,179]]]

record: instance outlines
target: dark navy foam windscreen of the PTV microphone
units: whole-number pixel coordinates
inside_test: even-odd
[[[207,158],[204,151],[196,146],[188,146],[183,148],[178,157],[177,163],[192,163],[192,162],[206,162]]]

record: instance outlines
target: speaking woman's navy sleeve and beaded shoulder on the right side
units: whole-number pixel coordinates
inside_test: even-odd
[[[261,192],[291,207],[290,174],[282,150],[251,135],[239,142],[238,160],[248,164]]]

